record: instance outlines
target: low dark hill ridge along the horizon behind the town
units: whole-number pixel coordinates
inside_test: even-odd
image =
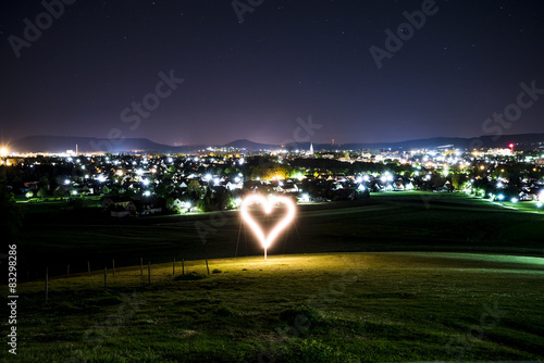
[[[407,140],[400,142],[364,142],[364,143],[313,143],[316,151],[331,150],[371,150],[371,149],[391,149],[391,150],[412,150],[412,149],[435,149],[442,146],[452,146],[458,149],[474,148],[507,148],[515,143],[517,150],[544,149],[544,134],[519,134],[481,136],[479,138],[461,137],[434,137],[428,139]],[[246,149],[248,151],[273,150],[281,146],[271,143],[259,143],[247,139],[239,139],[223,146],[168,146],[157,143],[146,138],[125,138],[121,140],[110,140],[95,137],[71,137],[71,136],[28,136],[13,141],[10,149],[17,152],[65,152],[76,148],[81,152],[104,151],[104,152],[132,152],[145,151],[157,153],[188,153],[197,150],[203,150],[207,147],[230,147]],[[289,143],[284,146],[287,150],[309,150],[310,142]]]

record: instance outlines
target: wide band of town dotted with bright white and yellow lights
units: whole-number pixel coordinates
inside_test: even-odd
[[[235,209],[248,190],[290,195],[299,203],[373,192],[460,191],[505,205],[532,202],[523,205],[537,209],[544,191],[544,153],[515,151],[514,145],[472,152],[448,147],[394,152],[208,148],[165,155],[15,154],[2,148],[0,165],[11,166],[9,186],[20,202],[89,200],[113,216],[149,213],[146,205],[153,205],[151,213]]]

